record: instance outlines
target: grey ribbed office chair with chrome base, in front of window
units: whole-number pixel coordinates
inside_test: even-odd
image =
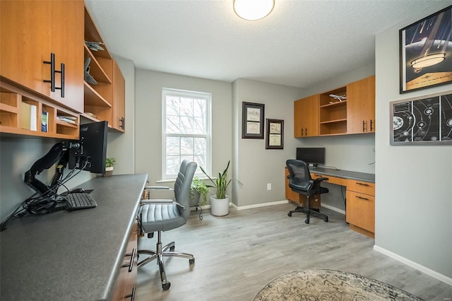
[[[141,268],[150,261],[157,259],[160,268],[160,279],[163,290],[168,290],[171,283],[167,281],[165,273],[165,264],[163,256],[177,256],[189,259],[189,264],[194,264],[195,258],[192,254],[174,252],[174,242],[162,247],[162,232],[173,230],[186,224],[190,216],[190,186],[191,180],[196,172],[196,163],[189,160],[183,160],[177,175],[174,189],[169,187],[145,187],[148,193],[152,190],[174,190],[174,200],[172,199],[143,199],[138,210],[140,228],[142,233],[148,233],[151,238],[154,232],[157,232],[157,246],[154,250],[138,250],[138,254],[148,254],[148,258],[138,262],[138,268]],[[169,249],[169,251],[167,251]]]

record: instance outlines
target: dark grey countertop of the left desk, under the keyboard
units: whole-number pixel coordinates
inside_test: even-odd
[[[109,300],[147,175],[96,177],[96,208],[11,220],[0,233],[1,295],[9,300]]]

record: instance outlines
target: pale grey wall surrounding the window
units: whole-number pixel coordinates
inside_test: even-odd
[[[162,179],[162,88],[212,93],[212,170],[217,175],[232,159],[231,83],[141,69],[136,70],[136,173],[147,173],[154,185]]]

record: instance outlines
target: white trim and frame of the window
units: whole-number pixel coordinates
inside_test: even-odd
[[[206,133],[206,146],[207,146],[207,155],[206,155],[206,166],[203,166],[203,169],[206,170],[207,174],[210,175],[210,170],[212,170],[212,93],[207,92],[198,92],[193,90],[181,90],[181,89],[174,89],[174,88],[162,88],[162,180],[159,182],[172,182],[174,181],[175,177],[168,177],[165,175],[165,169],[166,169],[166,96],[167,95],[177,95],[177,96],[192,96],[195,98],[208,98],[208,101],[206,103],[206,126],[207,126],[207,133]],[[168,135],[171,136],[171,135]],[[184,136],[184,135],[177,135],[177,136]],[[188,135],[187,135],[188,136]],[[200,136],[204,137],[204,135],[190,135],[193,136]],[[201,169],[196,170],[195,176],[198,177],[206,177],[206,175],[201,172]]]

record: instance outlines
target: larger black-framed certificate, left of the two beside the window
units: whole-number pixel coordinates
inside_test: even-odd
[[[242,138],[263,139],[263,114],[265,105],[242,102]]]

